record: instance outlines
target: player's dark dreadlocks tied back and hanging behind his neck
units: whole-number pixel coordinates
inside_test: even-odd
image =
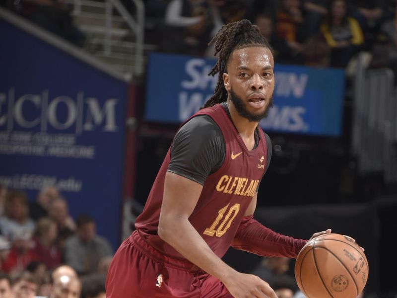
[[[204,108],[226,101],[227,91],[223,84],[222,74],[226,72],[226,64],[235,49],[262,46],[272,52],[269,43],[262,36],[258,26],[251,24],[249,20],[223,25],[208,45],[212,43],[215,43],[214,56],[219,53],[219,57],[216,65],[208,75],[215,76],[215,74],[219,73],[219,77],[214,95],[205,102]]]

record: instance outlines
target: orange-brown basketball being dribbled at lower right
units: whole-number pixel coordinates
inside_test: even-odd
[[[349,237],[324,234],[299,252],[295,278],[308,298],[356,298],[367,283],[368,261]]]

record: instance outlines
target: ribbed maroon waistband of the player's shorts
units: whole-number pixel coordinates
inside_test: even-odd
[[[139,230],[134,230],[132,232],[130,235],[130,241],[134,243],[143,253],[147,254],[160,263],[165,263],[173,268],[183,269],[192,273],[203,273],[199,267],[188,260],[184,261],[181,259],[175,259],[156,250],[143,239],[143,237],[139,234]]]

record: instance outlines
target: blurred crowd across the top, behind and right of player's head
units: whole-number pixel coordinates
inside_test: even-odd
[[[345,68],[359,52],[368,66],[396,69],[396,0],[147,0],[148,43],[164,52],[213,57],[223,24],[249,19],[276,63]]]

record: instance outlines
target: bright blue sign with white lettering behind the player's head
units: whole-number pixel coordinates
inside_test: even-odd
[[[151,54],[147,68],[145,119],[181,123],[212,96],[217,77],[207,74],[214,59]],[[344,72],[275,65],[273,108],[261,121],[267,131],[339,136]]]

